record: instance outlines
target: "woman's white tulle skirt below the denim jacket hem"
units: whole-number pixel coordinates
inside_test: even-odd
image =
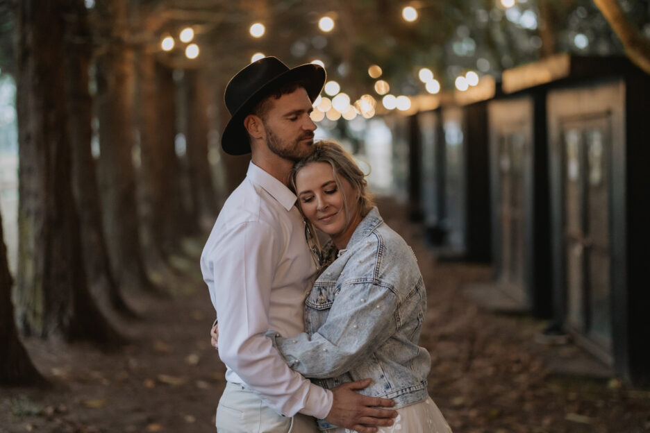
[[[325,433],[355,433],[356,430],[335,428]],[[431,397],[423,402],[400,407],[397,418],[390,427],[379,427],[378,433],[451,433],[451,427],[444,421],[442,412]]]

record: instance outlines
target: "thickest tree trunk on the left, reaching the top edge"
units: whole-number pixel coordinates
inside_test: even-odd
[[[109,342],[119,337],[88,291],[72,193],[62,85],[65,1],[19,3],[18,320],[26,333]]]

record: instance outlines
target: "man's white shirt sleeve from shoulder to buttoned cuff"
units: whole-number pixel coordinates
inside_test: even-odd
[[[333,402],[331,391],[292,371],[265,337],[274,257],[281,257],[282,248],[274,228],[251,221],[228,228],[221,241],[204,251],[201,268],[219,318],[219,357],[278,413],[325,418]]]

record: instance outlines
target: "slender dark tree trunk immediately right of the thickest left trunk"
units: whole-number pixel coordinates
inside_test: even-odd
[[[134,316],[113,277],[108,247],[103,234],[99,189],[95,161],[92,158],[92,98],[88,92],[91,58],[88,14],[82,1],[72,0],[67,23],[67,56],[65,57],[68,130],[72,146],[72,185],[81,219],[81,244],[85,257],[88,284],[100,303],[127,316]]]

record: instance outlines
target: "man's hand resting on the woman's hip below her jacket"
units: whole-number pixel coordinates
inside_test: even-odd
[[[392,425],[397,411],[377,407],[393,407],[393,400],[362,396],[354,391],[364,389],[371,383],[372,379],[357,380],[332,389],[334,402],[325,420],[358,433],[375,433],[375,426]]]

